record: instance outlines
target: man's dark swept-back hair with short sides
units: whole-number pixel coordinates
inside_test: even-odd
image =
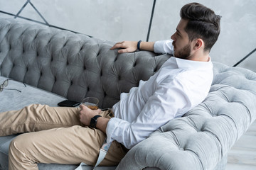
[[[220,16],[213,10],[198,3],[186,4],[181,8],[180,16],[188,20],[185,28],[189,40],[201,38],[205,42],[205,51],[209,51],[220,35]]]

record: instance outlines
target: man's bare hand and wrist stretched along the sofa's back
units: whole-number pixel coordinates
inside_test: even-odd
[[[137,45],[138,45],[137,41],[122,41],[122,42],[117,42],[113,47],[110,48],[110,50],[122,48],[121,50],[118,50],[119,53],[134,52],[137,50]],[[144,41],[140,42],[139,50],[154,52],[154,42],[144,42]]]

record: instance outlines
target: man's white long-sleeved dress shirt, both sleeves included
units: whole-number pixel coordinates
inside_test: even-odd
[[[154,52],[173,54],[171,40],[154,43]],[[213,81],[213,64],[171,57],[148,81],[122,93],[107,124],[107,142],[128,149],[173,118],[201,103]]]

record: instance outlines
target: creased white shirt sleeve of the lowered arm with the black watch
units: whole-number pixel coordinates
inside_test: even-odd
[[[149,97],[137,120],[129,123],[119,118],[110,119],[106,130],[107,142],[117,140],[128,149],[137,145],[188,105],[184,91],[183,84],[177,79],[161,84]]]

